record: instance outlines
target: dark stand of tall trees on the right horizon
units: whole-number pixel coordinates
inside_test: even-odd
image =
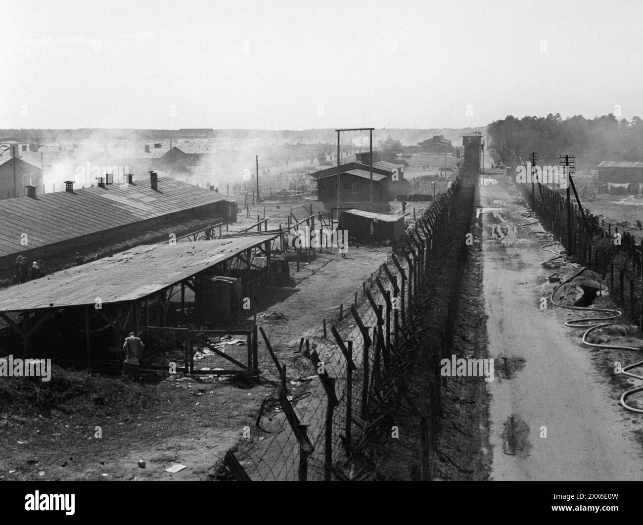
[[[613,114],[588,120],[581,115],[563,119],[507,116],[487,126],[494,160],[506,165],[527,161],[532,151],[541,165],[557,164],[559,155],[575,157],[577,168],[594,167],[603,160],[643,160],[643,120],[617,120]]]

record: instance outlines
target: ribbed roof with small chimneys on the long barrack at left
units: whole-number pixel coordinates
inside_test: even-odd
[[[170,177],[158,179],[158,192],[148,180],[78,189],[74,194],[47,193],[37,199],[4,199],[0,201],[0,257],[219,201],[235,202]],[[22,234],[27,234],[27,246],[21,244]]]

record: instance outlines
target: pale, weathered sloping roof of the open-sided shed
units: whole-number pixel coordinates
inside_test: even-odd
[[[143,299],[278,235],[226,237],[137,246],[113,257],[0,290],[0,311],[23,311]]]

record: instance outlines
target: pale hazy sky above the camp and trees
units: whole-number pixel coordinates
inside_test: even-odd
[[[429,128],[550,112],[643,116],[640,0],[2,7],[3,128]]]

